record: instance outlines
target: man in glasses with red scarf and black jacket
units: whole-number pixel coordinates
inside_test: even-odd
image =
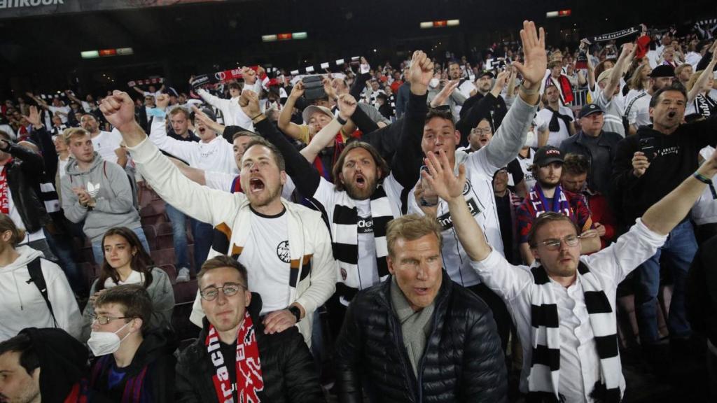
[[[244,266],[217,256],[196,277],[206,316],[179,355],[175,402],[326,402],[296,328],[266,333]]]

